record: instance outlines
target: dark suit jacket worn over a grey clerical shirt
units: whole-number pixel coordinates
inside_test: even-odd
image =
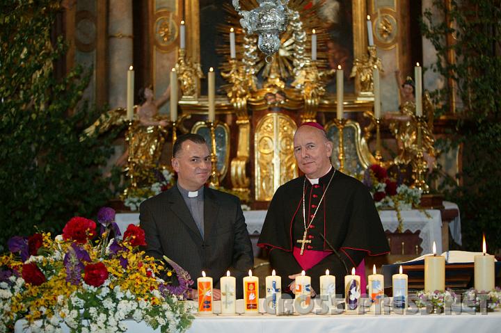
[[[157,259],[165,254],[195,281],[205,270],[216,289],[230,270],[237,278],[237,297],[241,298],[242,279],[253,267],[254,257],[240,201],[212,188],[204,188],[203,195],[204,238],[177,186],[141,204],[139,220],[146,234],[146,254]]]

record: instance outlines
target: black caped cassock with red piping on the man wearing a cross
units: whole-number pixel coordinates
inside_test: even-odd
[[[303,220],[303,186],[306,220]],[[324,200],[320,204],[326,188]],[[303,238],[304,225],[308,227],[317,206],[316,216],[308,228],[307,239],[311,243],[305,245],[305,251],[331,252],[306,270],[306,275],[312,278],[312,288],[317,293],[319,277],[325,274],[326,269],[336,277],[336,293],[344,293],[343,283],[347,271],[342,261],[351,272],[351,268],[358,266],[367,254],[385,254],[390,250],[374,201],[360,181],[334,168],[321,177],[317,185],[310,184],[308,179],[305,181],[304,176],[293,179],[280,186],[273,195],[257,243],[270,250],[271,267],[277,275],[282,276],[284,291],[292,282],[287,276],[301,273],[302,268],[294,258],[293,247],[301,247],[297,241]],[[341,259],[320,234],[324,234]]]

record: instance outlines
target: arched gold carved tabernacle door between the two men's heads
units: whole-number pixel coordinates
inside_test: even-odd
[[[297,177],[294,132],[287,115],[269,113],[257,124],[255,145],[255,200],[269,201],[282,184]]]

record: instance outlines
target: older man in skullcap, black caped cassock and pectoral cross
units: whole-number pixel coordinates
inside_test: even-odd
[[[257,245],[270,250],[283,291],[294,291],[294,277],[305,270],[319,293],[319,277],[328,269],[335,275],[336,293],[343,294],[344,276],[351,268],[366,255],[390,250],[369,190],[333,168],[332,150],[320,124],[299,127],[294,156],[305,176],[278,188],[264,220]]]

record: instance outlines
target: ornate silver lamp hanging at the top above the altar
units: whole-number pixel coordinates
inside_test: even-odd
[[[240,24],[249,35],[257,33],[257,47],[266,54],[267,63],[280,48],[280,33],[287,28],[287,3],[289,0],[257,0],[259,7],[240,10],[240,1],[232,0],[241,17]]]

